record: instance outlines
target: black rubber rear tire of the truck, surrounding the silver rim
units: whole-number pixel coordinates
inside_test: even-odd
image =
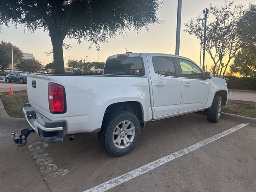
[[[119,132],[120,138],[121,138],[119,140],[122,140],[121,143],[119,144],[120,145],[119,147],[124,147],[124,148],[119,148],[118,146],[116,146],[118,144],[114,142],[114,139],[117,139],[119,135],[114,135],[114,132],[117,130],[117,126],[124,121],[125,121],[125,124],[126,123],[128,124],[129,122],[129,125],[126,130],[124,128],[123,129],[124,131]],[[132,124],[134,125],[133,130],[135,131],[134,137],[133,135],[131,136],[128,135],[129,127],[130,128],[133,127]],[[119,127],[120,130],[122,130],[123,126],[124,124],[122,124],[121,128]],[[126,138],[123,139],[121,135],[121,134],[125,134],[125,131],[127,131],[127,134],[126,134],[127,136],[125,136],[126,138],[129,137],[129,140],[130,140],[133,137],[130,143],[128,142],[126,143],[127,145],[126,147],[124,144],[124,140],[126,140]],[[134,114],[126,111],[116,111],[106,116],[103,120],[102,128],[98,133],[98,140],[100,144],[103,146],[104,149],[108,151],[109,154],[115,157],[123,156],[131,152],[131,150],[136,146],[139,137],[140,137],[140,122]]]

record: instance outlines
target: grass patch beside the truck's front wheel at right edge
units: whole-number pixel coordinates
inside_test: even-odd
[[[228,100],[222,112],[256,118],[256,102]]]

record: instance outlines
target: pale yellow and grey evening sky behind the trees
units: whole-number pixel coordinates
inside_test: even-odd
[[[252,0],[234,0],[235,4],[248,5]],[[210,4],[220,6],[224,0],[182,0],[181,33],[180,33],[180,56],[194,60],[199,65],[200,61],[200,41],[195,36],[183,32],[184,23],[191,18],[196,18]],[[106,61],[108,56],[125,53],[127,48],[130,52],[154,52],[175,54],[176,44],[176,22],[177,22],[177,4],[178,0],[166,0],[163,8],[158,10],[158,16],[162,24],[150,26],[149,30],[141,30],[138,33],[134,30],[127,31],[125,36],[118,35],[111,38],[108,42],[100,44],[100,61]],[[211,15],[209,19],[211,20]],[[46,65],[52,62],[53,55],[46,56],[45,52],[52,50],[52,43],[48,32],[36,30],[31,33],[23,26],[10,25],[8,28],[2,26],[0,29],[0,40],[12,42],[18,46],[24,53],[32,53],[37,60]],[[85,59],[87,62],[98,61],[98,51],[95,46],[89,50],[90,42],[82,40],[77,44],[76,40],[65,39],[66,44],[71,44],[70,50],[64,50],[64,63],[66,66],[69,58],[74,60]],[[212,60],[206,52],[205,65],[208,69],[212,65]]]

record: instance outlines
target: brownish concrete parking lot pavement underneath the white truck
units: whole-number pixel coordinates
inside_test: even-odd
[[[256,123],[250,119],[250,125],[191,152],[186,149],[184,155],[160,166],[145,166],[230,130],[248,118],[224,115],[219,123],[210,123],[203,114],[194,113],[149,122],[134,150],[115,158],[102,149],[97,133],[76,135],[72,142],[66,137],[55,144],[31,134],[26,146],[14,145],[10,133],[28,128],[28,124],[24,119],[8,118],[4,110],[0,110],[0,116],[6,117],[0,129],[1,191],[83,192],[95,186],[98,187],[94,191],[113,192],[255,191],[256,188]],[[134,170],[140,167],[140,171],[146,172],[136,175]],[[131,173],[124,175],[120,183],[117,177],[128,172]]]

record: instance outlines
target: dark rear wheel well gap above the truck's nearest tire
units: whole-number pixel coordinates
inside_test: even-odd
[[[104,113],[104,117],[116,110],[125,110],[127,112],[131,112],[139,119],[139,121],[141,123],[144,123],[143,110],[142,110],[142,106],[139,102],[128,101],[128,102],[120,102],[120,103],[111,104],[106,109],[106,111]]]

